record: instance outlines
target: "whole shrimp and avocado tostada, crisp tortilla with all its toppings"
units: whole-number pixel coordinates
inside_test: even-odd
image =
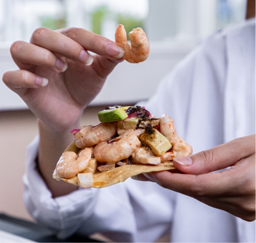
[[[115,121],[121,113],[125,117]],[[193,152],[177,135],[174,121],[166,114],[156,118],[145,107],[113,106],[106,107],[100,117],[113,121],[71,131],[76,141],[63,152],[52,175],[54,179],[83,188],[106,187],[143,171],[173,169],[167,161]]]

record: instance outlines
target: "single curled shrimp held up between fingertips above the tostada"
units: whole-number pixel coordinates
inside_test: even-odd
[[[122,24],[118,24],[115,33],[116,43],[124,49],[123,59],[129,63],[140,63],[148,58],[149,42],[143,29],[133,29],[129,33],[131,45],[127,42],[126,31]]]

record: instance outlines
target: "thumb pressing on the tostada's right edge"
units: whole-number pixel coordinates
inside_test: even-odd
[[[174,166],[186,174],[200,175],[233,166],[255,153],[256,135],[240,137],[190,157],[173,158]]]

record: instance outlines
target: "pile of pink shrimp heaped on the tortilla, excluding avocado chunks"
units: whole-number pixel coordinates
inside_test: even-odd
[[[137,117],[140,117],[140,114]],[[72,178],[86,169],[91,160],[97,162],[97,171],[102,172],[127,164],[145,164],[143,159],[147,157],[160,163],[172,161],[173,157],[192,154],[191,146],[177,136],[173,120],[166,114],[160,118],[150,114],[146,121],[141,119],[138,122],[136,129],[125,129],[123,122],[106,122],[95,127],[88,125],[75,129],[73,133],[76,146],[81,150],[77,154],[64,152],[56,166],[56,175]],[[150,125],[159,130],[172,145],[172,148],[161,156],[156,156],[149,146],[140,141],[141,134],[147,132]],[[154,162],[149,164],[156,166]]]

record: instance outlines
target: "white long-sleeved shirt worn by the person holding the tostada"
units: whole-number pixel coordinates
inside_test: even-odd
[[[200,43],[140,104],[156,116],[170,115],[195,153],[255,134],[256,19]],[[104,232],[116,242],[150,243],[170,233],[172,243],[256,242],[256,222],[152,182],[128,179],[53,199],[35,169],[37,149],[38,137],[28,147],[24,201],[31,216],[60,238]]]

